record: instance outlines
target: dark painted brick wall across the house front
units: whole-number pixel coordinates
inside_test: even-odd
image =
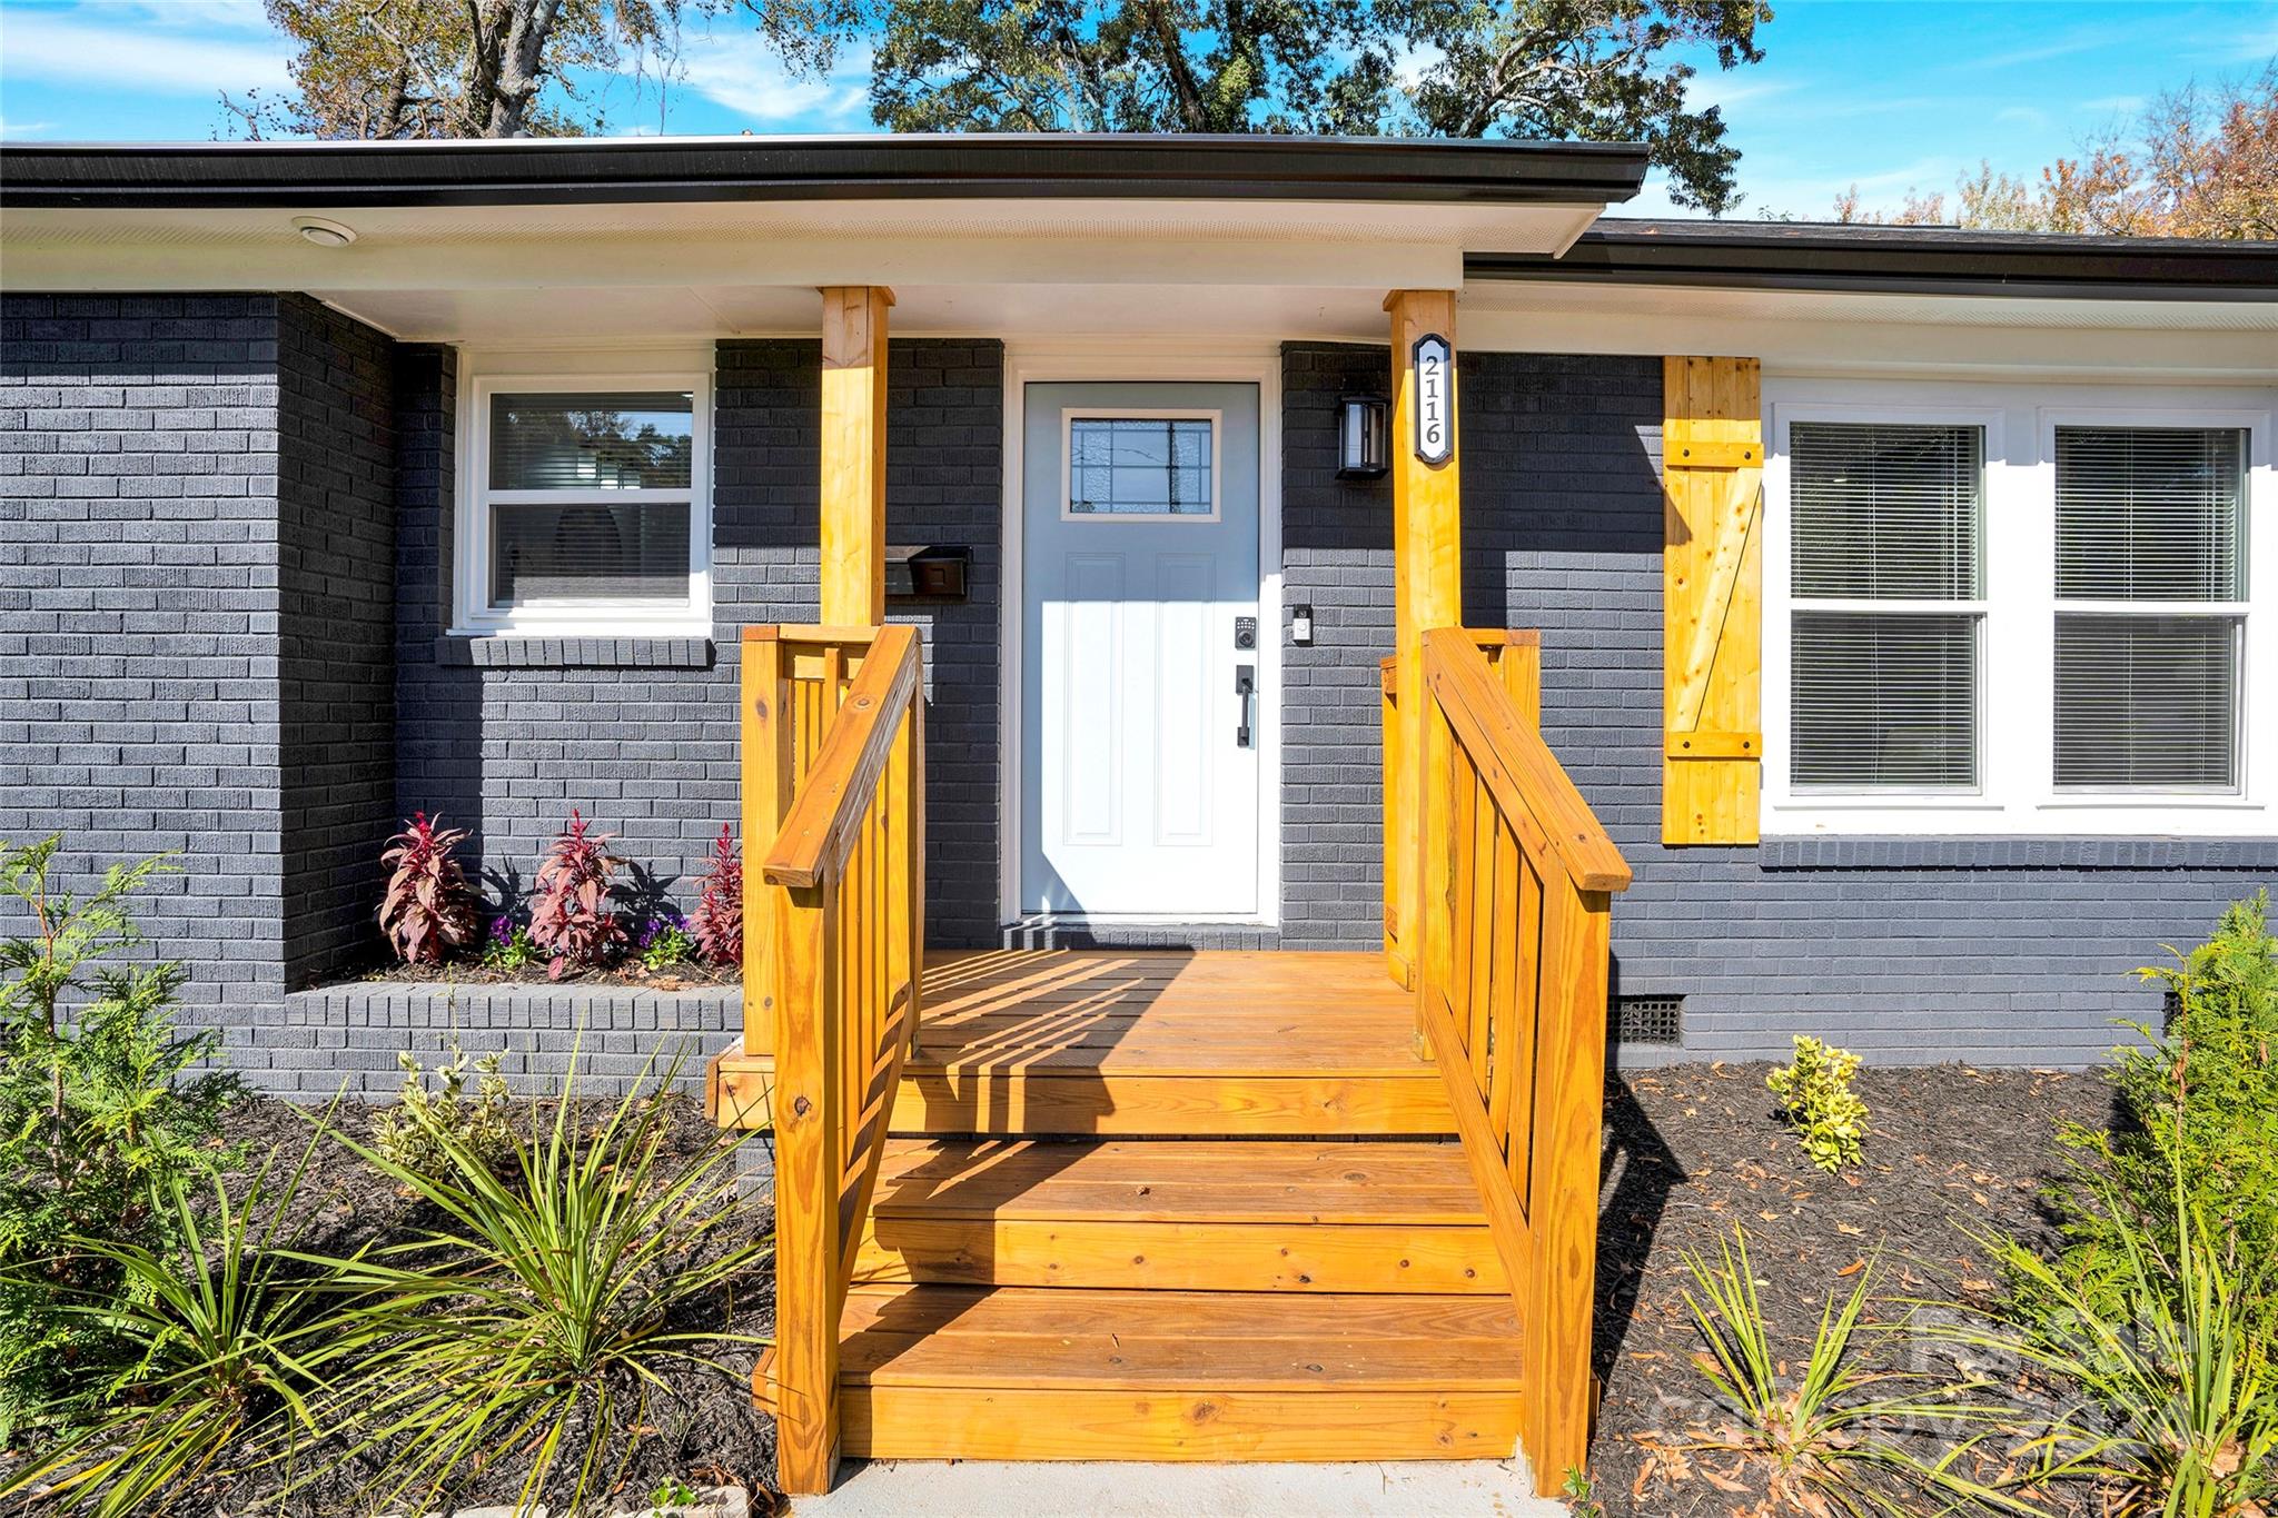
[[[1278,935],[1378,935],[1376,662],[1392,642],[1390,492],[1333,476],[1335,401],[1380,348],[1285,350],[1285,649]],[[570,806],[688,904],[736,810],[738,630],[816,614],[813,341],[718,348],[715,640],[444,637],[456,362],[269,296],[0,303],[0,835],[71,838],[66,876],[189,851],[144,919],[191,967],[194,1017],[278,1088],[392,1083],[433,995],[339,1020],[287,997],[374,949],[376,851],[396,817],[476,828],[517,897]],[[1879,1058],[2066,1061],[2157,997],[2125,972],[2201,935],[2273,849],[2201,842],[1784,840],[1658,844],[1661,364],[1467,355],[1465,594],[1544,633],[1544,731],[1638,867],[1617,990],[1686,997],[1683,1056],[1825,1033]],[[895,341],[888,537],[973,548],[973,596],[902,605],[927,630],[929,931],[998,935],[1002,350]],[[394,740],[390,742],[390,731]],[[1216,942],[1216,938],[1212,938]],[[330,1006],[330,1004],[321,1004]],[[661,1036],[729,1036],[718,999],[510,992],[544,1079],[633,1074]],[[544,1038],[542,1033],[554,1033]],[[551,1054],[551,1063],[547,1051]],[[1663,1058],[1667,1054],[1661,1054]],[[1626,1058],[1645,1058],[1629,1051]]]

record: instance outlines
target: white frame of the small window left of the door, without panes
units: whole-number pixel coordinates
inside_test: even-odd
[[[490,605],[490,508],[519,498],[597,503],[679,501],[679,489],[519,492],[490,489],[490,398],[508,394],[656,389],[688,391],[688,599],[576,596],[538,605]],[[467,355],[458,398],[458,512],[451,551],[451,635],[456,637],[708,637],[713,630],[713,373],[708,353],[638,355]]]

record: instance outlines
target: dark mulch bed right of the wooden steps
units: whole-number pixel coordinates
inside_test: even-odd
[[[2096,1074],[1866,1070],[1866,1165],[1827,1177],[1781,1124],[1768,1070],[1679,1065],[1608,1086],[1595,1345],[1606,1397],[1592,1475],[1611,1516],[1797,1511],[1763,1507],[1761,1472],[1738,1470],[1736,1457],[1667,1457],[1688,1429],[1724,1420],[1693,1368],[1702,1343],[1681,1252],[1713,1261],[1718,1238],[1747,1229],[1765,1315],[1800,1368],[1827,1295],[1850,1293],[1868,1261],[1877,1297],[1993,1290],[1968,1231],[2046,1243],[2039,1195],[2064,1163],[2057,1124],[2103,1127],[2112,1115]],[[2066,1493],[2050,1498],[2062,1509]]]

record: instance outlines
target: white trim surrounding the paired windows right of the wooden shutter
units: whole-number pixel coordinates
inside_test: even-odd
[[[1813,835],[2278,835],[2278,391],[1768,378],[1763,469],[1763,817],[1765,838]],[[1982,426],[1984,619],[1977,660],[1975,792],[1793,790],[1791,478],[1795,421]],[[2057,426],[2246,428],[2246,635],[2239,667],[2239,790],[2059,792],[2055,787]],[[2191,610],[2201,610],[2191,603]]]

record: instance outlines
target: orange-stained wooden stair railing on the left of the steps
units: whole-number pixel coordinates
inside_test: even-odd
[[[745,885],[745,1036],[770,1022],[775,1047],[777,1345],[754,1391],[784,1491],[825,1493],[838,1318],[923,1001],[923,655],[902,626],[749,628],[743,653],[745,838],[772,840]]]

